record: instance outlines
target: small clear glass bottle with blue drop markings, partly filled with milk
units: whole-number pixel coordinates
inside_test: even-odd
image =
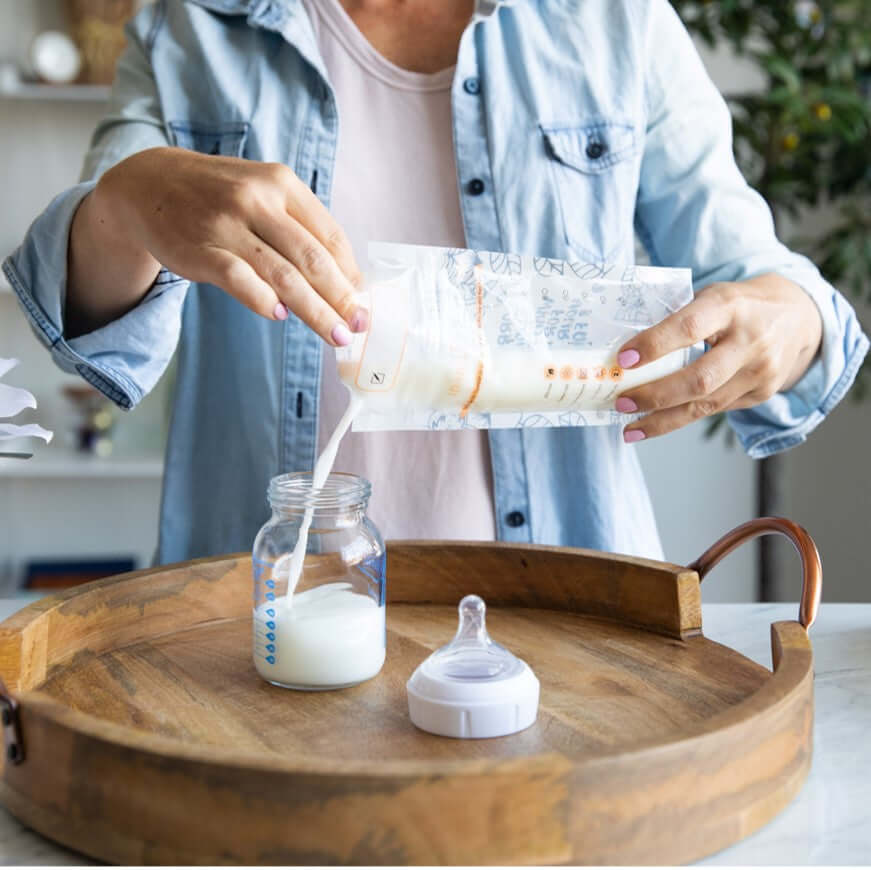
[[[338,689],[384,664],[385,552],[366,516],[372,485],[334,472],[312,492],[312,475],[269,483],[272,516],[254,541],[254,665],[275,686]],[[302,573],[288,599],[294,551],[308,516]]]

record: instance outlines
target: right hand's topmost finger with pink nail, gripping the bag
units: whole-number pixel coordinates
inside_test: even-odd
[[[623,368],[645,365],[683,347],[690,347],[726,329],[732,313],[716,287],[703,290],[689,305],[622,345],[617,362]]]

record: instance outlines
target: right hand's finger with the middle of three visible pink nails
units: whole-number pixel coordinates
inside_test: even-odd
[[[737,342],[724,341],[691,365],[664,378],[627,390],[617,399],[624,414],[674,408],[710,396],[742,368],[746,350]]]

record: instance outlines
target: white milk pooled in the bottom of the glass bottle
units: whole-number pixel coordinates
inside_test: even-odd
[[[263,679],[284,686],[347,686],[381,670],[384,638],[377,601],[350,583],[327,583],[295,595],[291,608],[257,608],[254,664]]]

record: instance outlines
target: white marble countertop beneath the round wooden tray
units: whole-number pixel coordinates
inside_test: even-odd
[[[0,599],[0,620],[25,601]],[[794,604],[708,604],[705,635],[771,667],[769,626]],[[816,719],[810,776],[762,830],[702,864],[867,864],[871,860],[871,604],[823,604],[811,630]],[[93,863],[0,808],[0,863]]]

